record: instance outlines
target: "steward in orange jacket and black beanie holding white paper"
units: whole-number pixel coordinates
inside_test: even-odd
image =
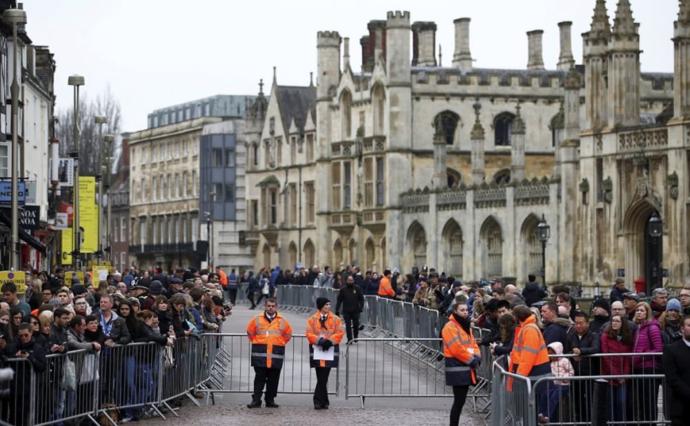
[[[328,405],[330,405],[328,400],[328,376],[331,374],[331,367],[338,366],[340,341],[343,339],[345,330],[340,317],[331,313],[331,301],[328,298],[317,298],[316,307],[318,312],[310,316],[306,321],[305,334],[310,343],[309,365],[314,367],[316,372],[314,408],[327,409]],[[316,347],[324,351],[333,348],[333,359],[314,359]]]

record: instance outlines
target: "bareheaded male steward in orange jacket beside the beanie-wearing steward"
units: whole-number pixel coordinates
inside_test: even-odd
[[[247,337],[252,343],[251,365],[256,374],[254,393],[249,408],[261,407],[266,385],[266,407],[277,407],[273,400],[278,393],[280,370],[285,358],[285,345],[293,336],[288,320],[278,313],[275,298],[267,298],[265,311],[252,318],[247,325]]]

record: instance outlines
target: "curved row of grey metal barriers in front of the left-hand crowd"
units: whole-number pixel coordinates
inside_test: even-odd
[[[3,364],[14,370],[14,378],[0,382],[0,424],[79,424],[100,417],[101,424],[108,418],[117,425],[116,409],[120,417],[125,409],[164,417],[163,407],[174,413],[171,400],[189,396],[195,401],[191,393],[203,392],[221,344],[217,334],[201,334],[178,338],[172,347],[130,343],[31,361],[8,358]]]

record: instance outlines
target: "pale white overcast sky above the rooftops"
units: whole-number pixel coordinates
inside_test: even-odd
[[[607,1],[613,23],[615,3]],[[642,71],[673,72],[677,0],[631,0],[640,23]],[[372,19],[408,10],[411,21],[434,21],[443,65],[453,57],[453,19],[470,17],[477,68],[525,68],[525,32],[544,30],[544,64],[558,62],[558,23],[573,22],[573,54],[582,63],[582,37],[595,0],[26,0],[26,26],[57,63],[57,108],[72,108],[71,74],[86,78],[83,93],[108,86],[122,110],[123,131],[146,128],[157,108],[215,94],[256,94],[259,79],[308,85],[316,71],[316,33],[350,37],[351,64],[361,64],[359,39]],[[338,6],[336,6],[338,5]],[[342,10],[342,6],[351,6]],[[267,91],[268,92],[268,91]]]

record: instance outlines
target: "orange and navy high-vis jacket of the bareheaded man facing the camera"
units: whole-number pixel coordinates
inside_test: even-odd
[[[266,313],[259,314],[249,321],[247,337],[252,343],[252,367],[283,367],[285,345],[293,337],[293,329],[286,318],[276,313],[273,321],[268,321]]]

